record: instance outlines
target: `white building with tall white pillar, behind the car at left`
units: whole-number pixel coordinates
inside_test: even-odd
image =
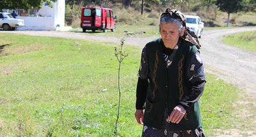
[[[5,10],[11,13],[12,10]],[[65,0],[57,0],[53,8],[44,3],[41,9],[19,10],[17,18],[24,19],[25,26],[17,30],[65,31]]]

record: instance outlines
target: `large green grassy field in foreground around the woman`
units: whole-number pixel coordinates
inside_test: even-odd
[[[0,136],[114,136],[116,44],[14,34],[0,34],[0,42]],[[124,50],[118,131],[140,136],[134,112],[141,48]],[[206,136],[239,126],[237,91],[207,74],[201,97]]]

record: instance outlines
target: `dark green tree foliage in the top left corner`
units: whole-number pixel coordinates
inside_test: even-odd
[[[48,3],[50,7],[53,7],[53,2],[57,0],[1,0],[0,10],[2,9],[40,9],[44,2]]]

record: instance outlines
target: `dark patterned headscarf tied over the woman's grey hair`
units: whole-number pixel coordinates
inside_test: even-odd
[[[193,31],[190,31],[186,27],[186,17],[184,16],[183,13],[181,13],[178,10],[174,11],[174,10],[171,10],[170,8],[167,8],[165,10],[165,12],[163,12],[161,14],[161,18],[164,17],[164,16],[169,16],[169,17],[172,17],[172,18],[179,19],[181,21],[181,24],[185,27],[184,35],[181,38],[190,42],[190,43],[192,43],[192,44],[194,44],[194,45],[196,45],[197,48],[200,49],[201,45],[198,41],[198,37]]]

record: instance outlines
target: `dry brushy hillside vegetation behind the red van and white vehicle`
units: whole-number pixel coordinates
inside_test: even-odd
[[[212,1],[213,2],[213,1]],[[250,2],[250,1],[248,1]],[[211,1],[144,1],[144,10],[141,15],[141,1],[132,1],[130,8],[123,8],[120,1],[95,1],[95,2],[84,2],[76,1],[71,2],[66,0],[66,24],[72,25],[73,28],[80,28],[80,14],[81,7],[106,7],[112,8],[114,15],[117,15],[117,25],[158,25],[160,14],[165,8],[170,7],[178,9],[186,15],[199,15],[205,26],[208,27],[223,27],[227,24],[227,13],[222,12],[218,7],[211,3]],[[246,10],[237,13],[230,13],[230,26],[255,26],[256,16],[253,4],[248,4]],[[117,28],[117,30],[120,29]],[[130,31],[130,30],[127,30]],[[132,31],[131,31],[132,32]]]

